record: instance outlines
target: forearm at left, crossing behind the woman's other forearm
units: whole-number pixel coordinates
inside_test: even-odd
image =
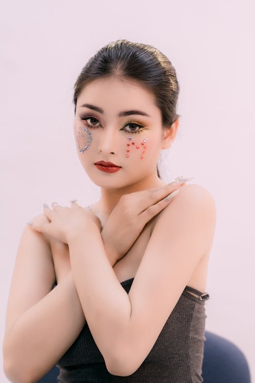
[[[86,320],[72,272],[15,323],[4,344],[7,377],[37,382],[56,365]]]

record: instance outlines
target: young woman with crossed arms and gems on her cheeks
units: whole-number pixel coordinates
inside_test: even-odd
[[[101,196],[86,208],[45,205],[23,231],[4,340],[10,381],[37,382],[56,364],[61,383],[202,381],[216,209],[191,178],[160,179],[178,96],[174,67],[151,45],[115,41],[82,69],[74,137]]]

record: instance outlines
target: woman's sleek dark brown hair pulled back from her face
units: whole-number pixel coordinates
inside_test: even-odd
[[[74,113],[84,86],[111,76],[131,79],[152,92],[164,128],[170,128],[180,117],[176,114],[180,85],[169,59],[152,45],[124,39],[103,46],[83,67],[74,84]],[[157,173],[160,178],[158,165]]]

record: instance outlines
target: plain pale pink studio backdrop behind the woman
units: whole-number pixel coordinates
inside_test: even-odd
[[[26,222],[44,202],[99,197],[75,149],[73,85],[101,46],[124,38],[154,45],[176,69],[181,121],[161,174],[193,176],[215,199],[206,329],[235,343],[255,377],[254,10],[247,0],[2,2],[1,343]]]

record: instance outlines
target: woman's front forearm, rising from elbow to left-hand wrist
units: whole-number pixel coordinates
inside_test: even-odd
[[[119,283],[108,260],[96,225],[70,233],[70,263],[74,283],[92,336],[106,364],[129,324],[129,296]]]

